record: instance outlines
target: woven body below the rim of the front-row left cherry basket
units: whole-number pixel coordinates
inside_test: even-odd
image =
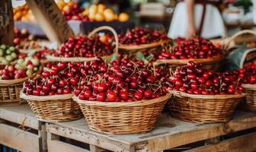
[[[78,103],[72,99],[27,102],[37,118],[44,121],[68,122],[82,118]]]

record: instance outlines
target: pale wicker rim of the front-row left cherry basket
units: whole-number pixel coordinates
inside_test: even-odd
[[[49,101],[49,100],[69,100],[72,99],[74,96],[74,93],[68,93],[68,94],[57,94],[52,96],[34,96],[34,95],[27,95],[25,93],[20,92],[20,98],[24,100],[30,100],[30,101]]]

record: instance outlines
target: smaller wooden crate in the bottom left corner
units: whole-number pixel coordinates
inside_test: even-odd
[[[0,144],[24,152],[46,151],[45,123],[26,104],[0,107]]]

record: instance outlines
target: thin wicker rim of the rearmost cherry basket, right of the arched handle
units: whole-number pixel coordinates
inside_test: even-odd
[[[171,42],[172,40],[171,39],[168,39],[168,40],[160,40],[158,42],[154,42],[154,43],[148,43],[148,44],[140,44],[140,45],[123,45],[123,44],[120,44],[119,45],[119,49],[126,49],[126,50],[137,50],[137,49],[149,49],[149,48],[152,48],[152,47],[155,47],[155,46],[161,46],[162,43],[168,43],[168,42]]]

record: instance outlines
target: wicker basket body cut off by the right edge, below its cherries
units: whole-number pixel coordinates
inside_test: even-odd
[[[251,112],[256,112],[256,85],[255,84],[242,84],[245,88],[246,100],[242,102],[241,106]]]

